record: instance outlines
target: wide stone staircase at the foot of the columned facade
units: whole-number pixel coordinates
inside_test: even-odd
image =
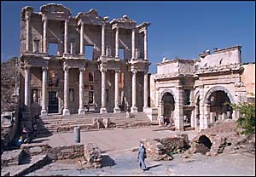
[[[95,121],[98,119],[109,119],[108,128],[138,128],[153,125],[144,112],[130,113],[130,117],[126,117],[125,112],[121,113],[88,113],[85,115],[49,115],[38,119],[37,134],[55,134],[63,132],[73,132],[73,128],[79,126],[80,130],[96,130],[99,127]],[[102,127],[104,128],[104,127]]]

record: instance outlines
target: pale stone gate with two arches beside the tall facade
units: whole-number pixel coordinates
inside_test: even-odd
[[[195,60],[164,58],[150,78],[150,105],[159,116],[170,117],[177,129],[205,129],[221,119],[236,119],[238,112],[225,102],[247,100],[243,71],[241,46],[214,49],[212,54],[207,50]]]

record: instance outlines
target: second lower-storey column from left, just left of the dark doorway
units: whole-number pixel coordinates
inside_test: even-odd
[[[43,67],[43,78],[42,78],[42,110],[41,117],[47,116],[46,108],[46,92],[47,92],[47,67]]]

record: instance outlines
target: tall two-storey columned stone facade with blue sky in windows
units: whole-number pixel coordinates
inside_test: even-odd
[[[49,113],[143,111],[148,107],[148,22],[72,16],[61,4],[21,10],[20,105]],[[55,46],[55,54],[50,54]]]

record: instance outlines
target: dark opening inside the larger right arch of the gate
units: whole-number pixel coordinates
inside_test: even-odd
[[[207,103],[210,106],[210,123],[232,118],[233,109],[229,104],[226,104],[231,103],[231,100],[224,90],[212,92],[208,97]]]

